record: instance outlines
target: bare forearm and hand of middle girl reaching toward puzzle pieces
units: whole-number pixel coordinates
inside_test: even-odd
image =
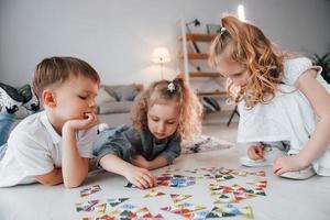
[[[156,178],[151,172],[145,168],[136,167],[114,154],[105,155],[101,157],[99,164],[108,172],[124,176],[139,188],[156,186]]]

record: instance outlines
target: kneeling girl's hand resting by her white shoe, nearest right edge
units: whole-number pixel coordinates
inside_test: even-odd
[[[282,156],[275,160],[273,164],[273,172],[277,176],[286,173],[286,172],[297,172],[301,170],[302,168],[307,167],[308,164],[304,163],[304,160],[297,155],[290,155],[290,156]]]

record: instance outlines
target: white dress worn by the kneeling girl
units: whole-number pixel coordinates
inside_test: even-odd
[[[318,117],[305,95],[294,85],[306,70],[318,70],[317,80],[330,92],[330,85],[320,75],[322,68],[310,59],[298,57],[284,62],[284,78],[279,90],[268,103],[246,109],[239,103],[239,143],[289,141],[288,154],[297,154],[316,129]],[[314,163],[317,174],[330,176],[330,148]]]

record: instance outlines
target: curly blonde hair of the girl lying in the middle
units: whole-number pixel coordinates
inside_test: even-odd
[[[170,82],[174,90],[170,90]],[[135,103],[132,109],[132,123],[134,129],[141,131],[147,127],[147,110],[157,101],[177,101],[180,109],[177,133],[184,141],[189,141],[201,130],[202,107],[186,80],[182,77],[173,81],[158,80],[153,82]]]

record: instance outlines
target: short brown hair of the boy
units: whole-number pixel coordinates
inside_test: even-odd
[[[62,84],[70,75],[84,76],[100,84],[98,73],[82,59],[75,57],[51,57],[36,65],[33,76],[33,90],[41,97],[45,88],[54,84]]]

